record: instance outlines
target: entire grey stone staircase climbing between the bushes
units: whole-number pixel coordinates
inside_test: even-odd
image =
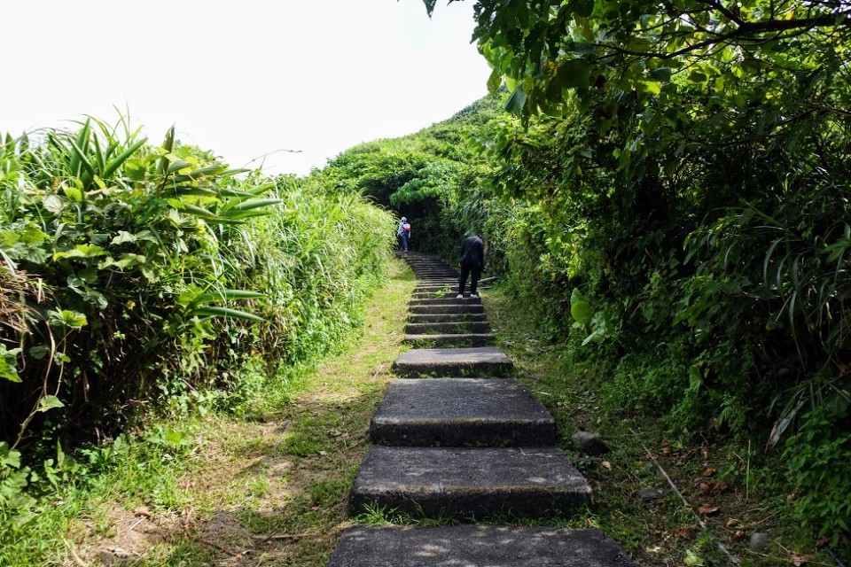
[[[423,254],[404,256],[420,281],[410,301],[396,379],[370,426],[374,444],[349,495],[367,507],[447,517],[441,527],[345,530],[329,567],[631,566],[594,530],[509,527],[498,517],[566,517],[591,488],[560,449],[550,413],[516,380],[480,299],[456,299],[457,272]]]

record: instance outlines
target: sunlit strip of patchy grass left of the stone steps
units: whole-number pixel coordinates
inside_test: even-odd
[[[402,350],[414,284],[393,260],[361,332],[318,368],[270,380],[276,390],[246,417],[153,427],[4,538],[0,564],[192,567],[247,556],[251,565],[324,565],[349,522],[347,493]]]

